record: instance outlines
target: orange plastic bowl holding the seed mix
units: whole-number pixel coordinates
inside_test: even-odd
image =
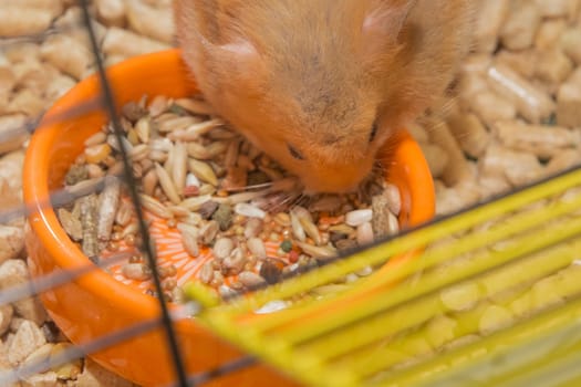
[[[135,57],[107,71],[117,108],[143,95],[184,97],[196,93],[178,50]],[[105,112],[93,111],[74,119],[55,122],[50,117],[93,101],[100,93],[96,76],[79,83],[46,114],[44,124],[32,136],[23,174],[24,200],[33,206],[29,216],[27,247],[33,276],[81,269],[89,260],[69,239],[51,207],[45,207],[52,190],[62,187],[64,175],[83,151],[84,140],[107,121]],[[388,179],[402,191],[403,227],[429,220],[434,215],[434,187],[426,161],[417,144],[405,132],[398,135],[391,155]],[[407,259],[411,255],[403,255]],[[402,259],[400,259],[401,261]],[[390,261],[397,263],[397,260]],[[384,269],[387,269],[384,266]],[[128,286],[104,271],[93,271],[41,294],[49,314],[75,344],[159,316],[157,301]],[[173,306],[170,306],[173,307]],[[175,324],[188,373],[216,367],[242,354],[196,323],[195,318]],[[163,328],[102,349],[91,355],[102,366],[144,386],[175,380],[172,357]],[[215,379],[209,386],[293,385],[274,370],[257,365]]]

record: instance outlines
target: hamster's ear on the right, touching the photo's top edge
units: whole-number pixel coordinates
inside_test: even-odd
[[[417,0],[380,0],[363,20],[362,34],[367,44],[397,44],[397,38]]]

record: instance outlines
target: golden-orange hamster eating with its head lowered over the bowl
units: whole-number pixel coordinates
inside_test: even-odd
[[[307,191],[346,192],[444,94],[468,51],[471,2],[175,0],[174,12],[217,113]]]

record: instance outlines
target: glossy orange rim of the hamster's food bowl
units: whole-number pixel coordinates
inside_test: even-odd
[[[134,56],[108,67],[111,77],[126,72],[141,72],[146,66],[164,67],[164,63],[180,65],[180,50],[170,49]],[[187,77],[187,76],[186,76]],[[23,197],[24,202],[32,206],[29,215],[29,223],[38,241],[43,245],[49,255],[59,268],[80,269],[92,264],[86,255],[73,243],[64,229],[61,227],[54,208],[43,206],[49,198],[49,172],[50,149],[59,136],[63,123],[50,122],[50,117],[64,112],[90,95],[98,87],[96,75],[79,82],[72,90],[56,101],[48,111],[45,118],[33,134],[27,149],[23,167]],[[404,164],[405,176],[408,185],[408,195],[412,202],[408,221],[418,224],[428,221],[435,212],[435,194],[432,175],[418,144],[406,132],[400,133],[396,159]],[[114,279],[102,270],[92,270],[89,273],[73,280],[80,286],[91,293],[96,293],[101,299],[113,307],[122,307],[126,312],[142,317],[158,315],[159,305],[157,300],[143,294],[133,286],[128,286]],[[98,290],[107,290],[98,292]],[[178,305],[169,303],[169,307]]]

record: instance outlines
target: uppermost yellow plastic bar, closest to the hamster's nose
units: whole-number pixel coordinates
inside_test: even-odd
[[[499,199],[498,201],[476,208],[468,212],[446,219],[432,224],[416,232],[402,236],[387,243],[359,252],[349,259],[344,259],[334,264],[323,266],[311,273],[307,273],[295,279],[284,281],[281,284],[270,286],[264,291],[259,291],[252,296],[234,302],[220,308],[220,313],[241,313],[260,307],[272,300],[287,299],[295,294],[303,293],[315,286],[332,282],[343,275],[366,266],[383,263],[387,258],[411,251],[429,242],[454,234],[460,230],[466,230],[479,222],[507,215],[510,211],[526,206],[530,202],[560,194],[568,188],[579,185],[581,181],[581,169],[573,170],[567,175],[554,178],[542,185],[512,196]],[[387,279],[384,279],[388,281]],[[392,278],[393,280],[393,278]]]

